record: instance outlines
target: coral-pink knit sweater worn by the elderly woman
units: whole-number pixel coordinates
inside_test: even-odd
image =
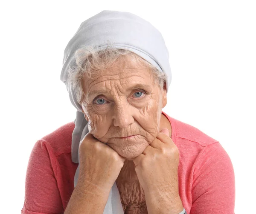
[[[233,165],[221,144],[162,112],[180,152],[179,194],[187,214],[234,214]],[[63,214],[74,190],[78,163],[71,160],[74,122],[35,143],[26,171],[22,214]]]

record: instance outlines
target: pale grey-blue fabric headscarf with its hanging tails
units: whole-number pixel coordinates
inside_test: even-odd
[[[75,128],[72,134],[72,161],[79,161],[79,144],[88,131],[88,121],[85,120],[82,108],[76,101],[76,93],[68,83],[68,70],[75,66],[74,53],[83,46],[93,46],[96,50],[105,49],[108,42],[117,49],[128,49],[147,60],[159,71],[167,74],[166,89],[168,91],[172,80],[169,65],[169,53],[161,33],[151,23],[129,12],[104,10],[81,23],[76,34],[67,44],[64,51],[61,81],[66,84],[73,106],[76,107]],[[74,186],[79,175],[79,165],[74,177]],[[122,203],[116,183],[114,183],[104,214],[123,214]]]

